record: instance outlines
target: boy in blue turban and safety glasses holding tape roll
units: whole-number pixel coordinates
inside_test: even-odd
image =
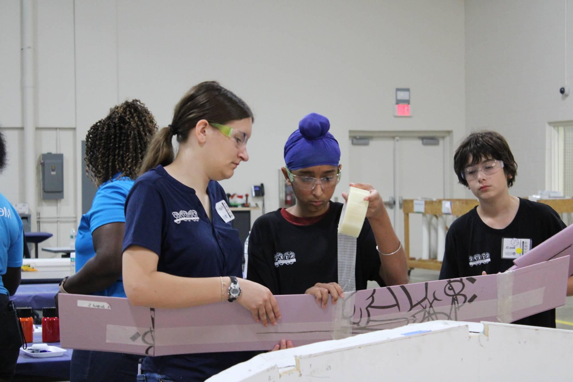
[[[331,201],[342,165],[338,142],[329,128],[325,116],[312,113],[286,141],[282,173],[292,185],[296,204],[254,222],[246,262],[247,279],[273,294],[311,294],[323,308],[329,294],[332,303],[344,297],[337,284],[337,228],[343,204]],[[368,280],[407,284],[406,255],[382,197],[369,184],[350,185],[370,191],[364,198],[367,219],[356,243],[356,290],[366,289]]]

